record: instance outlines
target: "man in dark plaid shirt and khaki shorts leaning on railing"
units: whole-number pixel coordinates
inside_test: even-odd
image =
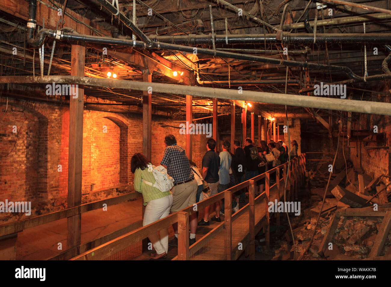
[[[164,150],[161,165],[167,168],[167,173],[174,178],[174,187],[172,187],[173,203],[171,213],[182,210],[195,203],[197,194],[197,180],[190,169],[189,159],[185,150],[176,144],[174,135],[166,135],[164,139],[166,149]],[[195,232],[197,231],[197,213],[189,216],[190,241],[189,245],[195,243]],[[178,246],[178,223],[172,225],[174,229],[174,240],[169,242],[171,246]]]

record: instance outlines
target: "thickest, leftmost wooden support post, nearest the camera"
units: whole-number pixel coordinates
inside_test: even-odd
[[[85,45],[71,46],[71,76],[84,76],[85,55]],[[84,86],[77,86],[76,91],[69,104],[68,208],[81,205]],[[80,244],[81,214],[77,214],[67,218],[66,245],[70,249]]]

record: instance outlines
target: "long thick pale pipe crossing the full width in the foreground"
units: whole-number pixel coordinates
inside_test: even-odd
[[[57,83],[80,84],[86,86],[115,87],[119,89],[132,89],[153,91],[169,94],[188,94],[203,98],[222,98],[259,103],[273,103],[278,105],[290,105],[296,107],[312,107],[318,109],[332,109],[337,111],[362,112],[367,114],[382,114],[391,116],[391,103],[358,101],[338,98],[322,98],[315,96],[300,96],[295,94],[278,94],[256,91],[238,91],[237,89],[217,89],[210,87],[183,86],[175,84],[149,83],[127,80],[114,80],[109,78],[89,78],[78,76],[3,76],[0,84],[31,84],[31,83]],[[241,92],[241,93],[240,93]]]

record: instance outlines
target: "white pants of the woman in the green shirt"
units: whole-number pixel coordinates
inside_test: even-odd
[[[171,206],[172,194],[148,201],[145,207],[143,226],[168,216]],[[167,228],[160,230],[160,239],[157,236],[149,236],[149,240],[152,242],[156,253],[167,253],[169,249],[169,232]]]

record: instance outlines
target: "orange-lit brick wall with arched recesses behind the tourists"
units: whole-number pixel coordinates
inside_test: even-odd
[[[0,113],[4,111],[5,100],[0,99]],[[186,135],[179,134],[179,124],[172,118],[152,115],[152,164],[160,164],[165,135],[174,134],[178,144],[186,147]],[[13,133],[13,126],[19,134]],[[84,111],[80,155],[83,198],[94,192],[91,184],[97,192],[133,183],[130,161],[134,153],[142,152],[142,133],[141,114]],[[38,214],[43,209],[65,208],[68,134],[68,107],[9,99],[0,126],[0,201],[32,201],[33,213],[36,209]],[[199,168],[206,141],[206,135],[193,135],[192,158]]]

